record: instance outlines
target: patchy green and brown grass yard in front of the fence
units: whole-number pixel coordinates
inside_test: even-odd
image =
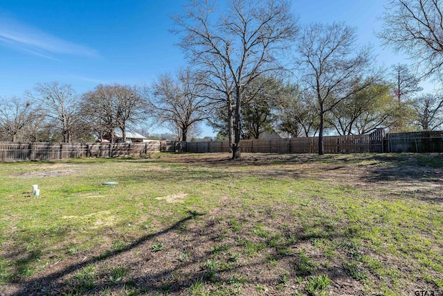
[[[443,295],[443,154],[228,157],[0,163],[0,295]]]

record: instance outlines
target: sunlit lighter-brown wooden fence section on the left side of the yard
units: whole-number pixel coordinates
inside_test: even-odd
[[[80,157],[121,157],[148,153],[175,152],[177,141],[143,143],[13,143],[0,142],[1,161],[55,160]]]

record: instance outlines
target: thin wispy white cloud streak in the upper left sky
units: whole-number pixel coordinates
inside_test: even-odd
[[[3,46],[53,60],[57,60],[54,54],[98,56],[94,49],[62,40],[9,17],[0,15],[0,24],[0,44]]]

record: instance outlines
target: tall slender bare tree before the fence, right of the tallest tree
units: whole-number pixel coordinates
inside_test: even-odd
[[[356,81],[368,71],[370,48],[356,49],[355,28],[343,23],[310,24],[305,27],[298,53],[302,83],[315,97],[320,118],[318,154],[323,155],[325,115],[341,101],[369,87],[370,79],[359,87]]]

